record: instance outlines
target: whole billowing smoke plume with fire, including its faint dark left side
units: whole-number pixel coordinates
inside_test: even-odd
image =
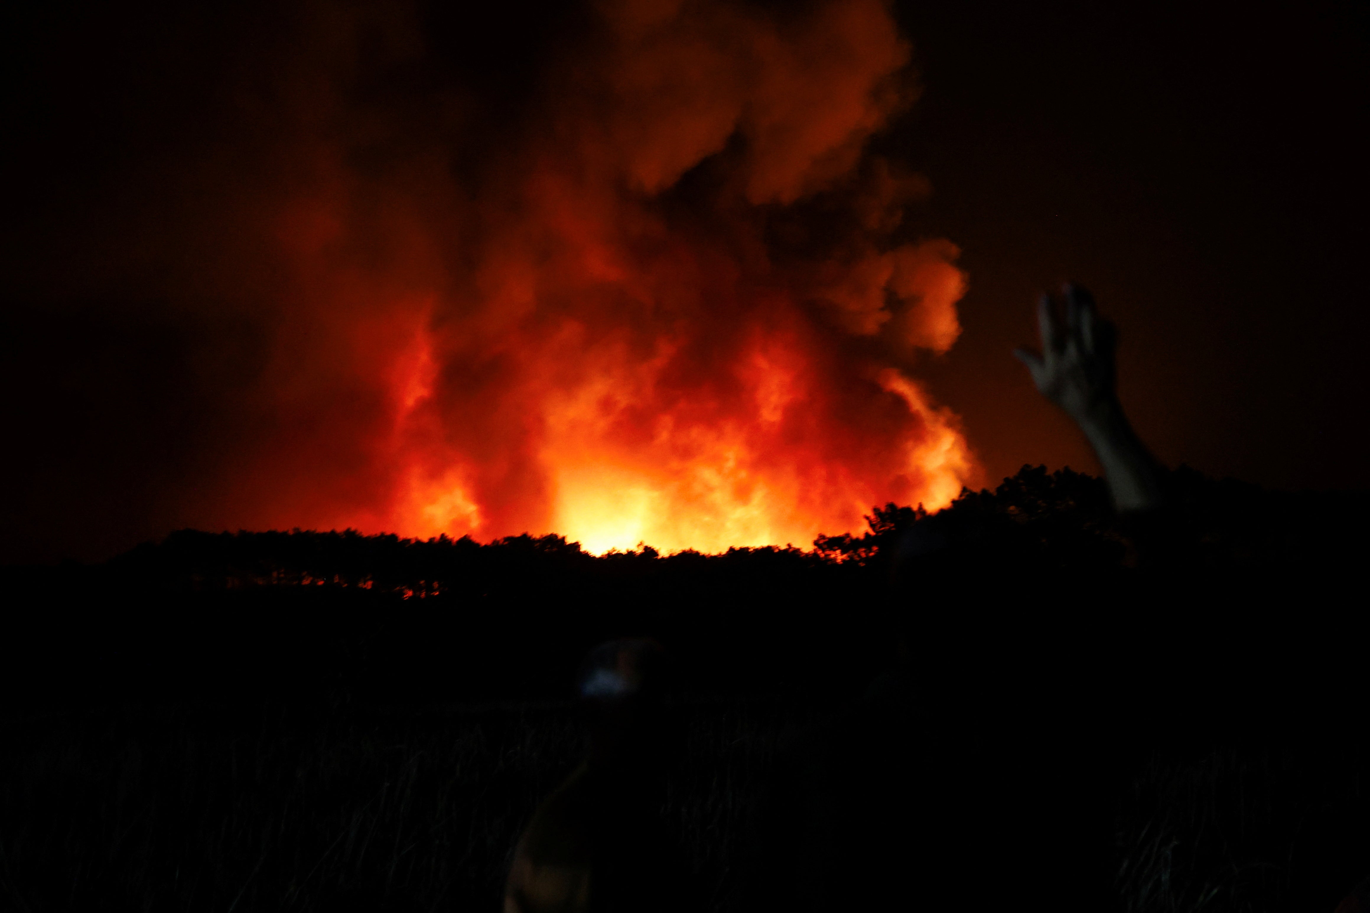
[[[116,441],[170,441],[162,470],[127,445],[90,476],[136,480],[130,534],[717,550],[973,480],[908,372],[955,342],[966,281],[955,245],[901,231],[925,179],[870,151],[915,94],[886,7],[558,15],[492,63],[478,34],[471,60],[436,48],[432,12],[307,5],[215,45],[203,85],[158,88],[203,115],[100,185],[63,235],[78,270],[22,290],[82,301],[63,313],[86,327],[173,327],[142,342],[182,352],[177,389],[115,385],[173,405],[93,400],[133,408]]]

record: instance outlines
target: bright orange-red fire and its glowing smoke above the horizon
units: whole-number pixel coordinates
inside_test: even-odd
[[[440,140],[359,112],[338,48],[375,26],[326,25],[263,209],[282,431],[221,522],[718,552],[977,479],[900,367],[955,342],[966,281],[951,242],[896,240],[926,182],[867,148],[914,96],[880,0],[600,3],[466,171],[460,100],[419,116]]]

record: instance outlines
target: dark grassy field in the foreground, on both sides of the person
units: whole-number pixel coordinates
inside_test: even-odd
[[[834,710],[680,710],[664,813],[704,909],[756,909],[751,819]],[[959,894],[1330,913],[1363,875],[1363,743],[1117,753],[1047,728],[921,730],[908,909]],[[580,746],[555,705],[125,708],[10,738],[0,905],[15,910],[495,910],[519,828]]]

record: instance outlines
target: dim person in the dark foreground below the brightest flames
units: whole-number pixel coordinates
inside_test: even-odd
[[[662,712],[662,649],[597,646],[580,673],[589,754],[519,838],[506,913],[688,909],[689,890],[662,820],[673,731]]]

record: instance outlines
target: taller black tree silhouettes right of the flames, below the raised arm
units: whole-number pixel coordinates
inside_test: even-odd
[[[1363,493],[1266,491],[1189,467],[1167,483],[1164,511],[1128,517],[1111,508],[1103,479],[1025,465],[993,491],[963,489],[936,515],[922,505],[875,508],[862,537],[823,535],[814,548],[827,560],[911,561],[929,572],[932,564],[962,560],[1097,571],[1145,567],[1148,558],[1163,569],[1201,572],[1336,569],[1367,538]]]

